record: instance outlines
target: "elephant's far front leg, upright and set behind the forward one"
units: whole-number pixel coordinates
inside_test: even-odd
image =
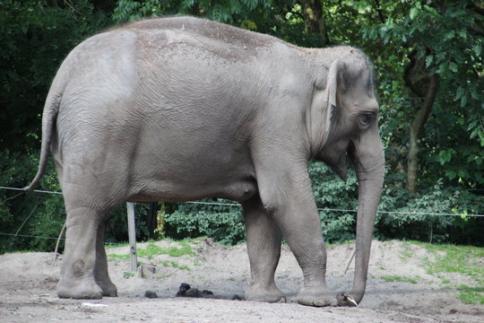
[[[264,210],[259,196],[242,204],[246,223],[247,252],[251,280],[247,301],[286,301],[274,283],[274,273],[281,256],[281,231]]]

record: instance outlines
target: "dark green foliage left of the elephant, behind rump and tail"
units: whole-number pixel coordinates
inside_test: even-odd
[[[87,0],[0,2],[0,185],[22,188],[39,162],[40,114],[48,87],[67,53],[108,22]],[[41,182],[58,190],[50,165]],[[61,196],[0,191],[2,233],[56,237],[65,221]],[[54,249],[56,240],[2,236],[0,252]]]

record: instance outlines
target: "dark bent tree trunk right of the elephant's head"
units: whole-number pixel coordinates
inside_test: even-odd
[[[407,189],[411,192],[417,191],[418,172],[419,172],[419,135],[421,129],[428,120],[436,92],[438,91],[438,75],[433,74],[429,78],[427,92],[422,107],[417,112],[415,119],[410,127],[410,148],[407,157]]]

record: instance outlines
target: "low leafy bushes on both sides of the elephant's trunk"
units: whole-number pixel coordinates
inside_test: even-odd
[[[313,192],[319,211],[324,239],[329,243],[355,239],[358,183],[349,171],[344,183],[322,162],[309,167]],[[484,198],[462,188],[435,187],[410,195],[386,179],[380,212],[376,214],[378,239],[406,239],[484,245],[482,219],[479,217],[439,214],[484,214]],[[330,209],[330,210],[325,210]],[[338,211],[335,211],[338,210]],[[346,210],[346,211],[345,211]]]

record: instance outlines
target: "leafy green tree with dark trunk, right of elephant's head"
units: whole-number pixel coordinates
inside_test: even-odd
[[[410,130],[407,188],[417,190],[419,169],[423,177],[430,179],[427,185],[445,177],[470,188],[481,186],[482,12],[471,1],[463,0],[388,4],[379,11],[385,12],[382,23],[363,30],[363,36],[404,53],[399,57],[405,66],[405,92],[410,94],[407,97],[416,98],[399,107],[403,114],[411,116],[405,121]],[[396,82],[402,84],[401,80]],[[426,156],[419,158],[422,153]],[[438,164],[445,165],[445,169]]]

